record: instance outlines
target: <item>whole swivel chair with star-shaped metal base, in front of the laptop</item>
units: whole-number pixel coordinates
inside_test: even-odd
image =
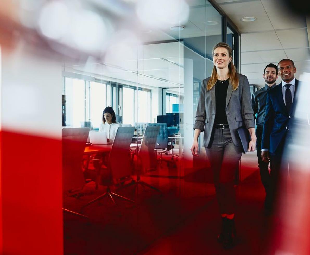
[[[117,129],[107,166],[103,166],[103,168],[101,168],[102,173],[100,174],[101,176],[105,175],[105,178],[103,178],[102,181],[105,185],[107,185],[107,190],[104,194],[83,205],[82,210],[86,206],[100,200],[105,196],[110,196],[116,206],[117,204],[115,203],[113,196],[117,196],[132,203],[135,202],[129,198],[114,193],[110,188],[111,185],[121,184],[127,180],[132,180],[132,166],[129,149],[134,131],[135,127],[119,127]]]

